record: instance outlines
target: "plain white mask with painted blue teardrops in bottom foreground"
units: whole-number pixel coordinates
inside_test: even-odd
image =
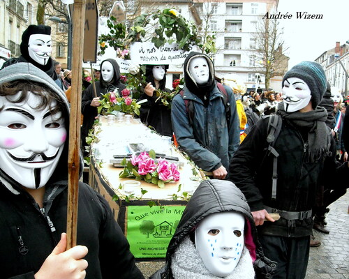
[[[214,213],[195,229],[196,250],[207,270],[226,277],[237,266],[244,248],[244,217],[235,212]]]

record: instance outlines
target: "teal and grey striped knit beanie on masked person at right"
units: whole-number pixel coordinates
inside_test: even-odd
[[[327,88],[325,71],[319,63],[303,61],[291,68],[283,77],[283,83],[289,77],[298,77],[306,82],[311,91],[311,105],[313,109],[318,106]]]

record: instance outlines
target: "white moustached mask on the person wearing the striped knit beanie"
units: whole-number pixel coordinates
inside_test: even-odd
[[[285,112],[297,112],[306,107],[311,100],[308,84],[298,77],[289,77],[283,82],[283,106]]]

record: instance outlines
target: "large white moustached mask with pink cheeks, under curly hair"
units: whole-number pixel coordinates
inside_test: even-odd
[[[0,169],[31,189],[45,186],[50,179],[67,135],[61,112],[52,115],[48,106],[35,109],[40,98],[29,93],[22,103],[11,103],[0,96]]]

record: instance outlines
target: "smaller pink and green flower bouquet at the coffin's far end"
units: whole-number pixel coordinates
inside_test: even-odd
[[[126,114],[140,115],[140,105],[136,99],[131,98],[131,91],[124,89],[121,97],[117,89],[101,96],[101,105],[97,107],[98,114],[110,114],[114,111]]]

